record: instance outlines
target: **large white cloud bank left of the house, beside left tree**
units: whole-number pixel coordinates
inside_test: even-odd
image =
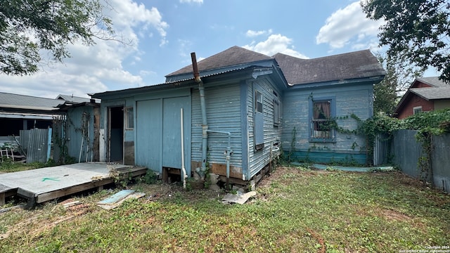
[[[130,44],[101,39],[96,39],[93,46],[70,44],[72,58],[65,59],[63,64],[41,65],[41,71],[32,76],[2,74],[2,83],[8,85],[2,84],[0,91],[46,98],[56,98],[60,93],[86,97],[86,93],[142,86],[143,77],[150,72],[124,70],[124,60],[130,60],[131,65],[141,60],[145,52],[139,51],[139,41],[145,37],[142,34],[148,37],[152,34],[149,30],[158,32],[161,46],[167,43],[169,25],[157,8],[149,9],[131,0],[110,0],[110,4],[113,9],[105,9],[105,14],[113,20],[119,36],[131,39]]]

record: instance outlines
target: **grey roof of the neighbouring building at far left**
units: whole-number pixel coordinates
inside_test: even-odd
[[[63,104],[62,99],[39,98],[13,93],[0,92],[0,108],[16,108],[26,110],[57,110],[58,105]]]

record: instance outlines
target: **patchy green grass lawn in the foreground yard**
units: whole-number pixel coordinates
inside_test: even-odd
[[[399,252],[450,246],[450,195],[399,172],[279,167],[245,205],[224,193],[138,183],[147,193],[112,210],[112,193],[0,213],[0,252]],[[417,251],[418,252],[418,251]]]

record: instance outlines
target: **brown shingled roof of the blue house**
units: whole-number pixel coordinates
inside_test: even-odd
[[[265,72],[264,70],[272,69],[274,74],[276,73],[276,77],[280,77],[285,85],[288,83],[314,84],[358,78],[380,80],[385,75],[383,67],[369,50],[316,59],[300,59],[282,53],[271,57],[240,46],[232,46],[225,51],[200,60],[197,65],[202,78],[251,69],[254,72]],[[93,98],[102,98],[117,93],[172,89],[193,82],[193,66],[187,65],[165,77],[165,83],[162,84],[90,95]]]

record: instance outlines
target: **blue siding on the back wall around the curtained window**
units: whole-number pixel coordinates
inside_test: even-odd
[[[293,89],[285,93],[283,107],[283,142],[285,151],[290,151],[295,135],[295,151],[316,151],[323,153],[359,154],[366,153],[366,139],[355,134],[342,134],[335,132],[335,141],[332,143],[314,143],[309,139],[309,100],[321,97],[335,98],[336,122],[344,129],[354,130],[357,122],[350,115],[365,120],[373,114],[373,88],[371,84],[354,86],[339,86],[328,89]],[[294,151],[294,150],[293,150]]]

